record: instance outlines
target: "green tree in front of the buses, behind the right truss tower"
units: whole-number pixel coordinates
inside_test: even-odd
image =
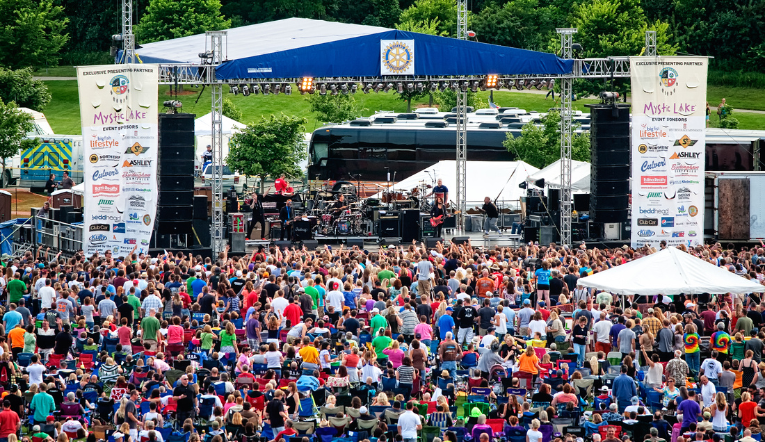
[[[540,169],[561,158],[561,115],[556,111],[548,112],[541,122],[542,127],[524,125],[518,138],[508,133],[503,142],[507,151],[515,154],[518,160]],[[590,135],[575,134],[572,141],[571,159],[590,161]]]

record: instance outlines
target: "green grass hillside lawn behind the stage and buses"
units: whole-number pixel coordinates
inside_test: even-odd
[[[45,83],[53,96],[53,99],[45,109],[45,116],[48,122],[50,122],[50,126],[58,134],[80,134],[82,128],[80,125],[77,81],[54,80]],[[224,86],[224,88],[223,96],[232,99],[236,107],[243,112],[243,122],[245,123],[252,122],[261,116],[284,112],[287,115],[305,116],[308,119],[308,124],[305,127],[306,132],[311,132],[315,128],[321,127],[321,122],[317,121],[316,115],[308,111],[308,102],[305,101],[305,96],[301,96],[299,93],[293,93],[291,96],[285,96],[284,94],[279,94],[278,96],[243,96],[241,94],[233,96],[229,94],[227,87]],[[160,106],[164,100],[174,99],[174,96],[168,92],[168,89],[169,86],[160,86],[158,99]],[[206,115],[210,112],[209,88],[203,90],[201,87],[186,86],[185,91],[187,95],[177,96],[177,99],[184,103],[184,112],[194,113],[197,116]],[[758,92],[759,89],[710,87],[708,96],[710,104],[713,105],[719,103],[722,96],[725,96],[729,103],[739,109],[765,110],[765,102],[757,100]],[[484,102],[488,102],[488,92],[478,93],[478,96]],[[363,115],[371,115],[378,110],[406,112],[406,102],[398,99],[398,96],[394,93],[356,93],[355,97],[356,103],[362,109]],[[545,112],[557,104],[552,99],[545,100],[543,94],[509,92],[505,90],[495,92],[494,101],[499,106],[516,106],[540,112]],[[584,105],[594,102],[597,102],[597,100],[581,99],[574,102],[574,108],[587,112],[587,108]],[[412,102],[412,108],[418,104],[427,105],[428,98],[425,97],[425,99],[418,102]],[[742,129],[765,128],[765,115],[737,112],[734,116],[741,122],[739,127]],[[714,119],[715,115],[712,115],[712,117]]]

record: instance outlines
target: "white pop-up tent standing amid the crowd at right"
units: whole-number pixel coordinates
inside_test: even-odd
[[[601,271],[577,284],[613,294],[725,294],[765,291],[765,286],[702,261],[675,247]]]

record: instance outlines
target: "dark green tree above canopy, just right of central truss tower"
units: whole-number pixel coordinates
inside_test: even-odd
[[[512,0],[504,5],[490,3],[473,18],[480,41],[529,50],[545,50],[555,34],[552,6],[539,0]]]

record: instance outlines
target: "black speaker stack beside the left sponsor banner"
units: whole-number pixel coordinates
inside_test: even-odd
[[[209,246],[192,235],[194,225],[194,114],[159,115],[159,200],[155,248]]]

